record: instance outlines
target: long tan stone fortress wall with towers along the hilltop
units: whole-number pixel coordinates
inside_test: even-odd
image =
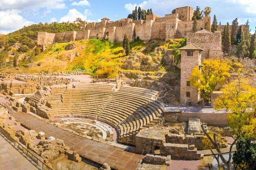
[[[187,33],[192,32],[194,9],[185,6],[176,8],[175,11],[175,14],[166,14],[165,17],[150,14],[146,16],[146,20],[135,21],[130,18],[111,21],[105,17],[99,23],[84,24],[82,31],[57,34],[38,32],[38,45],[88,39],[122,42],[125,34],[130,41],[137,37],[144,41],[186,37]],[[203,30],[207,22],[211,27],[211,17],[203,17],[202,20],[198,20],[198,31]],[[244,29],[244,26],[239,26],[238,29]],[[218,31],[223,32],[224,25],[218,25]]]

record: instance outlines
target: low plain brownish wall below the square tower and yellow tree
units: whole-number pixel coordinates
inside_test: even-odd
[[[208,125],[227,125],[228,113],[193,113],[193,112],[165,112],[165,122],[187,122],[189,118],[199,118]]]

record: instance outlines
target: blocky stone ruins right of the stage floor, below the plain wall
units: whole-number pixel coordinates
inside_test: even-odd
[[[203,124],[207,130],[207,124]],[[190,118],[187,132],[184,133],[173,128],[148,128],[140,130],[136,135],[136,151],[148,153],[145,161],[159,159],[160,156],[172,156],[173,159],[198,160],[204,157],[198,150],[204,150],[202,139],[207,138],[201,129],[201,121],[198,118]],[[227,147],[227,140],[222,138],[220,147]],[[154,158],[154,156],[157,156]],[[156,161],[157,162],[157,161]]]

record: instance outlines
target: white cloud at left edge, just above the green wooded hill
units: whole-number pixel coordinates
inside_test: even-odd
[[[22,28],[23,26],[29,26],[33,22],[26,20],[19,15],[18,10],[0,11],[0,32],[9,33],[13,30]]]

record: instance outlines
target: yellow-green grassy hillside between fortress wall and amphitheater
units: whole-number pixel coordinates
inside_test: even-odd
[[[76,48],[65,50],[70,43],[74,43]],[[119,71],[154,74],[167,70],[162,61],[167,51],[172,51],[178,62],[180,51],[177,48],[185,43],[185,39],[151,40],[147,44],[138,40],[130,43],[131,54],[128,56],[123,52],[122,43],[95,39],[55,43],[39,55],[35,55],[36,50],[26,52],[16,68],[1,72],[29,74],[82,69],[95,78],[114,78]]]

